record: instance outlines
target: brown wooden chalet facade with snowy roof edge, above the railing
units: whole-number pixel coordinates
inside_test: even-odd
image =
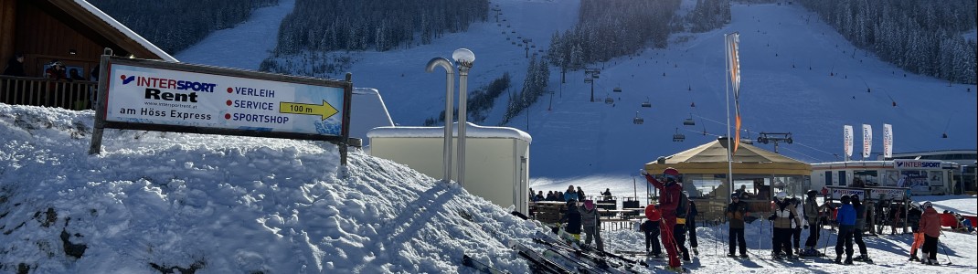
[[[105,48],[111,48],[115,56],[175,61],[86,6],[90,5],[74,0],[0,0],[3,66],[15,54],[22,54],[27,76],[43,77],[47,64],[60,60],[68,71],[79,69],[87,79]]]

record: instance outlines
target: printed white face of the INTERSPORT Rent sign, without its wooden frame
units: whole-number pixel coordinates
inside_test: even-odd
[[[107,121],[341,133],[341,87],[118,64],[108,86]]]

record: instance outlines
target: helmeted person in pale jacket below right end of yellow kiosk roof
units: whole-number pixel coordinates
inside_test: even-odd
[[[801,216],[795,213],[795,206],[791,205],[791,202],[787,199],[787,194],[784,192],[778,192],[775,200],[771,202],[771,209],[771,216],[768,217],[768,220],[772,221],[772,225],[774,226],[771,235],[773,247],[771,256],[774,259],[793,258],[791,252],[791,234],[793,232],[791,222],[796,221],[802,223],[803,220]],[[786,256],[781,256],[782,252]]]

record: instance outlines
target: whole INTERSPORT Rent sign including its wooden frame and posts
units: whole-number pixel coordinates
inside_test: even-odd
[[[102,56],[89,154],[104,128],[329,141],[345,164],[351,74],[345,80]]]

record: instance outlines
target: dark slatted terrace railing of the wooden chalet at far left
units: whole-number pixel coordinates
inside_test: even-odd
[[[97,82],[82,80],[52,80],[48,78],[0,75],[0,103],[92,110],[89,94]]]

